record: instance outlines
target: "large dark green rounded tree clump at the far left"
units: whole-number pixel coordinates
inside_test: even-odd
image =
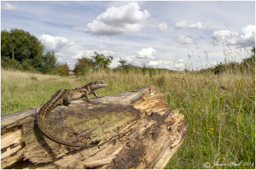
[[[44,53],[44,44],[28,31],[17,28],[10,31],[1,31],[1,65],[13,67],[15,59],[22,65],[22,70],[47,73],[55,68],[56,59],[54,52]]]

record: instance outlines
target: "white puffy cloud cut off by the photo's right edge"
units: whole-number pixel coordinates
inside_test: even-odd
[[[248,25],[243,27],[239,32],[229,30],[213,31],[211,37],[214,37],[214,40],[217,42],[226,40],[229,45],[241,45],[242,43],[247,43],[251,46],[252,44],[250,44],[250,42],[255,40],[255,31],[256,26]]]

